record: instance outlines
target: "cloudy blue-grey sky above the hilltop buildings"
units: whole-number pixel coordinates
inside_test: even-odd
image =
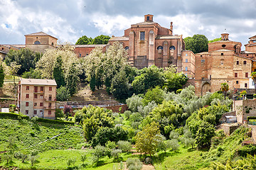
[[[154,21],[183,38],[208,40],[230,33],[230,40],[248,42],[256,35],[255,0],[0,0],[0,44],[24,44],[24,35],[43,31],[60,42],[75,43],[82,35],[124,35],[124,29]]]

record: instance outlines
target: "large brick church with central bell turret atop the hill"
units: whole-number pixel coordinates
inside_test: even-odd
[[[109,44],[119,41],[128,50],[129,63],[139,69],[156,65],[169,67],[174,64],[178,72],[186,72],[193,78],[195,62],[193,52],[184,51],[182,35],[173,35],[173,23],[164,28],[153,21],[153,15],[145,15],[144,22],[132,24],[124,30],[124,36],[110,38]],[[188,62],[189,61],[189,62]]]

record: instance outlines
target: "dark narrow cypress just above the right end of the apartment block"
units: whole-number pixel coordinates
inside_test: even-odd
[[[63,61],[61,59],[61,56],[58,56],[53,67],[53,78],[55,79],[58,88],[60,88],[60,86],[65,86],[65,77],[62,68]]]

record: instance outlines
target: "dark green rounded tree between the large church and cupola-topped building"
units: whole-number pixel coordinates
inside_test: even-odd
[[[208,39],[205,35],[193,35],[193,37],[184,38],[186,50],[191,50],[193,53],[208,51]]]

